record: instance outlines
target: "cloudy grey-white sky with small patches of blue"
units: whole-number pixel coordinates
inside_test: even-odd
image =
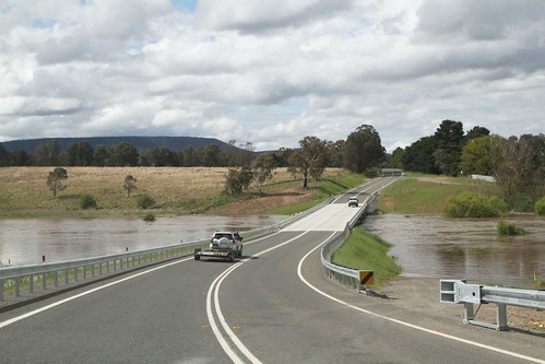
[[[0,0],[0,142],[545,132],[544,0]]]

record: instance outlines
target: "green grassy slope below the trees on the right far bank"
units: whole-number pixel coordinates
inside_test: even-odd
[[[497,186],[463,177],[410,174],[387,187],[377,209],[382,213],[441,214],[447,200],[461,192],[497,193]]]

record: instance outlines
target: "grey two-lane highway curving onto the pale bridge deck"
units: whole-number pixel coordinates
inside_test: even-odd
[[[327,279],[320,247],[355,213],[346,201],[245,242],[235,262],[183,258],[0,314],[0,363],[545,363],[543,337],[437,330]]]

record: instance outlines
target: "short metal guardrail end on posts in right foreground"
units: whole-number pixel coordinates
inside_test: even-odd
[[[463,322],[496,329],[507,330],[507,306],[518,306],[545,309],[545,291],[518,290],[500,286],[467,284],[463,280],[441,280],[440,302],[463,304]],[[496,304],[496,322],[476,320],[474,305]],[[478,308],[477,308],[478,312]]]

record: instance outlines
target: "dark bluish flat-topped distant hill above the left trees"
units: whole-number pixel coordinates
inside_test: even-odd
[[[23,139],[1,142],[8,152],[25,151],[34,153],[39,144],[56,140],[61,152],[67,151],[72,143],[87,142],[91,148],[96,145],[115,145],[122,142],[134,145],[139,152],[150,149],[166,148],[173,152],[182,152],[188,146],[198,150],[208,144],[216,144],[222,149],[234,148],[217,139],[212,138],[194,138],[194,137],[88,137],[88,138],[40,138],[40,139]]]

